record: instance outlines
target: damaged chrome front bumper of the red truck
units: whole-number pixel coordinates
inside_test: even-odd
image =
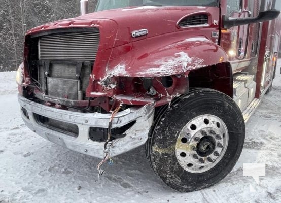
[[[108,128],[111,114],[90,114],[60,110],[35,103],[20,94],[18,95],[18,100],[21,108],[24,108],[28,113],[27,118],[23,111],[21,111],[21,116],[26,126],[41,137],[83,154],[97,158],[104,157],[104,142],[93,142],[90,140],[89,129],[90,127]],[[66,123],[76,124],[79,128],[78,137],[74,138],[40,125],[33,113]],[[122,127],[132,121],[136,122],[126,131],[126,137],[113,140],[108,144],[110,146],[110,155],[113,157],[143,145],[148,139],[153,117],[153,105],[132,107],[117,113],[113,119],[112,128]]]

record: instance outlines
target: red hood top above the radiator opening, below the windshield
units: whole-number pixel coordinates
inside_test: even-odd
[[[28,35],[50,29],[69,27],[99,27],[101,40],[108,42],[102,49],[117,47],[131,40],[131,32],[148,29],[147,38],[174,32],[177,22],[190,13],[206,11],[208,7],[130,7],[99,11],[76,18],[65,19],[35,27],[27,32]],[[103,41],[103,40],[102,40]]]

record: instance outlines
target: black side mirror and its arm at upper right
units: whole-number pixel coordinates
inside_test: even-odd
[[[277,18],[281,10],[281,1],[277,0],[263,0],[260,7],[260,13],[257,17],[247,18],[231,18],[226,15],[223,16],[223,26],[228,29],[239,25],[247,25],[252,23],[269,21]]]

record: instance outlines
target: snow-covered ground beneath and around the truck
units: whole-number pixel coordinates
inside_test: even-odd
[[[281,202],[281,60],[273,90],[247,125],[234,170],[216,186],[179,193],[151,170],[143,147],[114,157],[98,179],[99,159],[69,151],[25,127],[15,72],[0,73],[0,203],[6,202]],[[259,185],[243,163],[266,165]],[[250,185],[255,192],[250,191]]]

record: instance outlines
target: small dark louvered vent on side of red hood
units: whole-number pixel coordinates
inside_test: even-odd
[[[188,16],[181,20],[179,27],[185,28],[190,26],[207,25],[208,16],[204,14]]]

